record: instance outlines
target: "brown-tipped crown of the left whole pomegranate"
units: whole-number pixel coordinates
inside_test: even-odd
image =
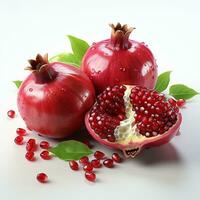
[[[36,77],[37,83],[47,83],[56,78],[57,72],[49,65],[48,54],[43,57],[37,54],[36,59],[28,60],[30,66],[26,67],[25,70],[30,70]]]

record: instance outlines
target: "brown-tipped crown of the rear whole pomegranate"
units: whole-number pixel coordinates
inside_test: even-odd
[[[109,24],[109,26],[112,29],[111,32],[111,44],[112,46],[120,49],[129,49],[131,47],[131,43],[129,42],[129,36],[132,33],[132,31],[135,29],[133,27],[125,25],[121,25],[120,23],[117,23],[115,26],[114,24]]]

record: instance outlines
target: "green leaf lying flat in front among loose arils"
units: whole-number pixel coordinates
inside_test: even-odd
[[[76,140],[60,142],[49,151],[61,160],[79,160],[81,157],[93,153],[87,145]]]

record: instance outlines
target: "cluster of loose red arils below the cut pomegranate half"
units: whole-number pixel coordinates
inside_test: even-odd
[[[105,156],[105,153],[102,151],[96,151],[94,154],[94,159],[89,160],[87,156],[83,156],[80,158],[79,162],[75,160],[69,161],[69,166],[72,170],[77,171],[79,170],[80,165],[82,166],[83,171],[85,171],[85,178],[88,181],[95,182],[96,180],[96,174],[95,170],[101,168],[102,166],[105,166],[107,168],[113,168],[114,162],[120,163],[122,162],[122,158],[118,153],[113,153],[112,158],[107,158]]]

